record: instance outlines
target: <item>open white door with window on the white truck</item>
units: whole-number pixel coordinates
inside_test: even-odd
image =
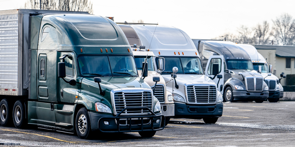
[[[218,85],[217,85],[217,90],[223,94],[223,81],[224,81],[224,64],[223,64],[223,56],[210,56],[209,60],[207,62],[206,65],[206,70],[205,70],[205,75],[208,77],[213,78],[214,75],[212,75],[212,69],[213,69],[213,64],[217,63],[219,64],[219,74],[222,75],[222,78],[217,78],[217,76],[213,79],[213,81]],[[219,82],[218,82],[219,81]]]

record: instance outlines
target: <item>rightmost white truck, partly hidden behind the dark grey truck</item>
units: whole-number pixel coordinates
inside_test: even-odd
[[[268,101],[278,102],[280,98],[283,97],[283,86],[279,82],[280,79],[272,73],[272,65],[266,62],[266,59],[258,53],[256,48],[250,44],[239,44],[242,48],[249,54],[253,68],[255,71],[259,71],[259,66],[261,66],[261,75],[264,78],[268,86]]]

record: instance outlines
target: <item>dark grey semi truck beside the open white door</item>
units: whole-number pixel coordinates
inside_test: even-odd
[[[241,46],[230,41],[199,41],[198,51],[202,54],[203,65],[211,55],[224,57],[224,101],[262,103],[267,100],[268,86]]]

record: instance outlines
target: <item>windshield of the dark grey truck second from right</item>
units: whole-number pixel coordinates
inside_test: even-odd
[[[228,69],[249,69],[253,70],[253,65],[250,60],[226,60]]]

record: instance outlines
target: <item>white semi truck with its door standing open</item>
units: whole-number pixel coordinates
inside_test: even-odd
[[[158,72],[165,80],[167,91],[173,94],[173,118],[203,119],[205,123],[216,123],[223,112],[220,93],[223,56],[211,56],[210,64],[203,71],[196,47],[185,32],[163,25],[130,26],[139,35],[142,45],[165,59],[165,69]],[[159,65],[155,66],[157,69]]]

